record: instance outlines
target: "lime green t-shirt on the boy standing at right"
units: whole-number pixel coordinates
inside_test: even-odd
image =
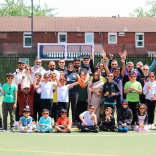
[[[129,88],[136,88],[138,90],[141,90],[141,84],[138,81],[135,82],[126,82],[124,89],[128,90]],[[129,102],[138,102],[139,101],[139,93],[136,91],[130,91],[127,95],[126,95],[126,100]]]

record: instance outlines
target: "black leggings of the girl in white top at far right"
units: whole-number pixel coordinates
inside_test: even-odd
[[[154,112],[155,112],[156,101],[151,101],[146,99],[147,113],[148,113],[148,124],[153,124],[154,122]]]

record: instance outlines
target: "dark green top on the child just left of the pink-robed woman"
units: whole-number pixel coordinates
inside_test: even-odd
[[[84,88],[81,88],[78,85],[78,94],[79,94],[78,101],[86,101],[87,100],[87,98],[88,98],[87,86],[88,86],[88,82],[85,83],[85,87]]]

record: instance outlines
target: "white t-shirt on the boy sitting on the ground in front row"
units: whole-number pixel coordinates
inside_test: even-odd
[[[82,113],[82,117],[84,118],[84,121],[87,123],[87,126],[93,126],[94,125],[92,115],[94,115],[95,121],[97,121],[96,115],[94,113],[89,114],[89,111],[85,111]],[[82,125],[84,125],[84,123],[82,123]]]

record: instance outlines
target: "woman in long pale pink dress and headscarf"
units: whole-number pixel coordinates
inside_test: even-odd
[[[100,80],[100,75],[98,72],[95,72],[93,74],[93,80],[88,84],[88,103],[91,103],[95,106],[97,121],[99,121],[100,117],[100,99],[103,85],[104,82]]]

